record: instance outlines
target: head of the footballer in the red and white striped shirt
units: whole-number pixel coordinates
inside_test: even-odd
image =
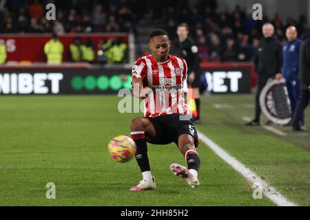
[[[169,36],[165,30],[154,30],[149,34],[149,50],[152,51],[156,61],[167,61],[170,47]]]

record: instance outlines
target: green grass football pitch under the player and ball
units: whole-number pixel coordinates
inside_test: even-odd
[[[0,97],[0,206],[275,206],[252,197],[252,185],[203,142],[201,186],[192,189],[169,164],[185,165],[174,144],[149,144],[157,189],[130,192],[141,173],[134,159],[114,162],[107,143],[130,135],[139,113],[121,114],[116,96]],[[278,136],[243,126],[254,113],[254,96],[204,96],[200,132],[300,206],[310,205],[310,133]],[[222,104],[218,109],[218,104]],[[217,108],[216,108],[217,106]],[[310,111],[306,111],[310,129]],[[46,199],[56,185],[56,199]]]

